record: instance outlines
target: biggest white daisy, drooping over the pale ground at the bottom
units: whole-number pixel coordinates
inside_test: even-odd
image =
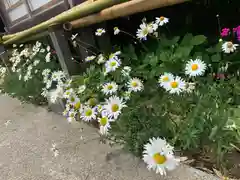
[[[152,138],[150,143],[144,145],[143,161],[147,164],[149,170],[166,175],[166,170],[174,170],[180,160],[173,154],[173,147],[166,140],[161,138]]]

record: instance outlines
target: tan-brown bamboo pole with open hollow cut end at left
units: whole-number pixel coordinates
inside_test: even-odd
[[[68,29],[71,29],[69,28],[70,26],[72,26],[72,28],[84,27],[91,24],[100,23],[102,21],[157,9],[164,6],[170,6],[173,4],[180,4],[187,1],[189,0],[131,0],[104,9],[99,13],[74,20],[70,22],[71,25],[68,23],[65,24],[64,27],[66,26]]]

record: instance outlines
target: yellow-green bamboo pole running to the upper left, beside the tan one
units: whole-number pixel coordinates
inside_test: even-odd
[[[3,44],[14,43],[27,36],[31,36],[32,34],[46,30],[52,24],[60,24],[92,13],[96,13],[104,8],[120,3],[121,1],[122,0],[97,0],[89,4],[80,4],[32,28],[16,33],[14,37],[8,39],[7,41],[4,41]]]

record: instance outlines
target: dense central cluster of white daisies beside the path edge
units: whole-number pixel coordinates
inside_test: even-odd
[[[126,101],[130,99],[131,93],[140,92],[144,89],[143,83],[137,77],[131,77],[131,68],[123,66],[120,58],[121,52],[117,51],[104,56],[88,56],[86,62],[96,62],[103,66],[104,75],[108,76],[117,70],[126,80],[125,84],[117,84],[115,81],[108,81],[100,84],[99,89],[104,95],[104,102],[99,102],[95,98],[90,98],[87,102],[81,102],[80,98],[85,93],[86,86],[81,85],[77,89],[65,86],[63,97],[67,100],[66,109],[63,114],[69,122],[80,118],[83,121],[98,121],[99,132],[107,135],[111,128],[111,122],[117,121],[123,108],[127,107]]]

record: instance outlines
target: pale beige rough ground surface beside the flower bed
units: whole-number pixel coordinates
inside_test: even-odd
[[[99,143],[98,137],[85,124],[68,124],[60,115],[0,95],[0,180],[218,179],[185,166],[160,177],[139,159]]]

